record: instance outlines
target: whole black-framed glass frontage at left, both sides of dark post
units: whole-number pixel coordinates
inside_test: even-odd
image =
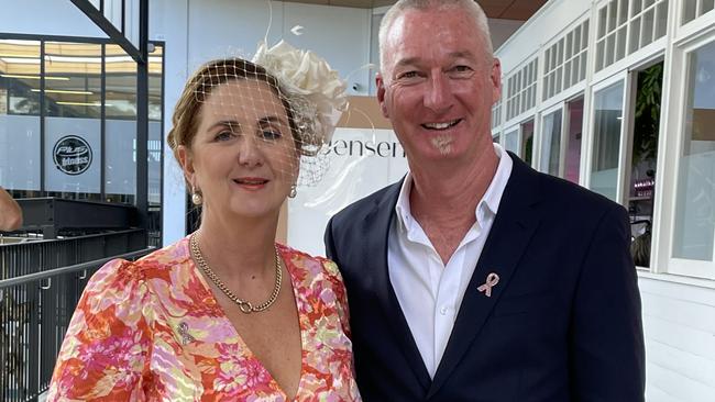
[[[102,42],[0,38],[0,186],[13,197],[134,202],[136,64]],[[162,45],[150,45],[148,87],[148,228],[158,245]]]

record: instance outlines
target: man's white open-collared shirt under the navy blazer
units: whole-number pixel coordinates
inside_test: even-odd
[[[498,144],[494,144],[494,150],[499,164],[474,211],[476,222],[466,232],[447,266],[410,212],[410,174],[405,178],[395,205],[397,219],[389,230],[387,243],[389,281],[432,378],[512,175],[512,158]]]

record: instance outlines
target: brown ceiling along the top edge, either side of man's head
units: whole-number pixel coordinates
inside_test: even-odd
[[[374,9],[392,5],[395,0],[288,0],[295,3],[354,7]],[[491,19],[526,21],[548,0],[479,0],[480,5]]]

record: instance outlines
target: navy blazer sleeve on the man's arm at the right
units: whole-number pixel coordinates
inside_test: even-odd
[[[639,402],[645,346],[628,216],[606,212],[593,235],[574,295],[569,339],[574,401]]]

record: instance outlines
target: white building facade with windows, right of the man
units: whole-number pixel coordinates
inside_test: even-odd
[[[496,52],[495,141],[629,211],[647,400],[715,401],[715,11],[551,0]]]

